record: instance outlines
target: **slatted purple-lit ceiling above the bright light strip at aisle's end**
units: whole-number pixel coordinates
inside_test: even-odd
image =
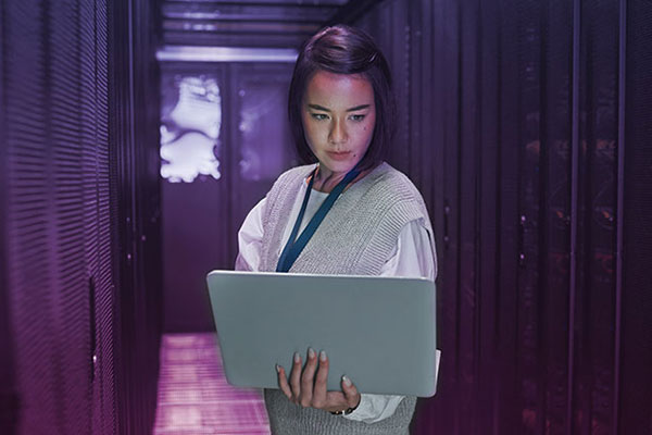
[[[327,24],[350,23],[380,0],[163,0],[162,44],[297,49]]]

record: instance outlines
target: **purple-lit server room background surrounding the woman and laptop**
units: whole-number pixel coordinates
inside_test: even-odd
[[[652,4],[1,0],[0,433],[268,434],[205,274],[327,24],[388,58],[439,261],[414,434],[652,434]]]

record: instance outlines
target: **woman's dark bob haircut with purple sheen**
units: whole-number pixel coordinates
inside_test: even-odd
[[[294,64],[288,96],[290,128],[301,164],[317,162],[305,141],[301,103],[309,80],[319,70],[335,74],[360,74],[372,85],[376,125],[369,148],[358,169],[364,171],[375,167],[385,159],[396,132],[396,99],[385,57],[369,35],[343,24],[325,27],[303,44]]]

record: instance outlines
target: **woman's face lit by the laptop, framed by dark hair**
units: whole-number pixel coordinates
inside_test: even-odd
[[[364,157],[374,136],[372,84],[359,74],[317,71],[303,96],[301,121],[319,171],[348,173]]]

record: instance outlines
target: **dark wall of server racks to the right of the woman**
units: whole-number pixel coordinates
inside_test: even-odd
[[[387,0],[354,23],[390,58],[390,163],[436,229],[443,359],[415,433],[652,433],[649,11]]]

